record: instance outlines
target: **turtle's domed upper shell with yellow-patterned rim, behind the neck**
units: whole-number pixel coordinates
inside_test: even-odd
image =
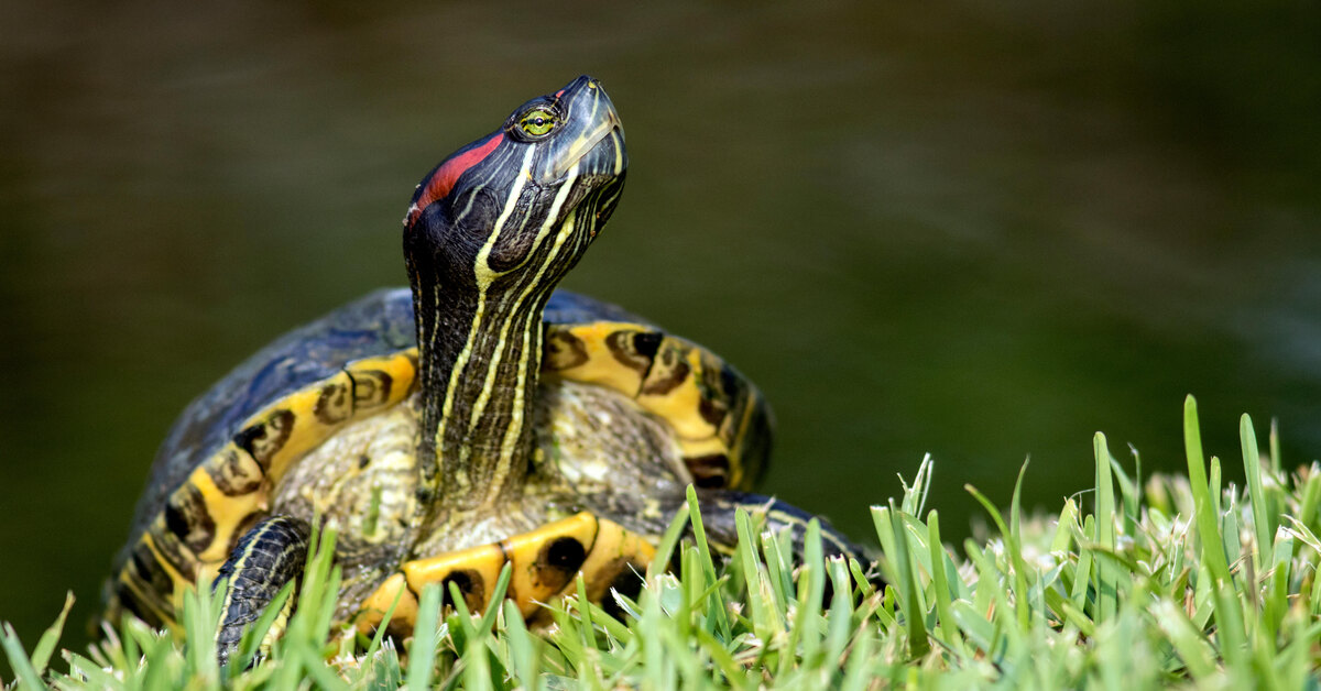
[[[544,382],[593,383],[631,398],[674,429],[699,486],[746,489],[756,481],[769,455],[770,411],[733,367],[622,308],[567,291],[552,295],[543,321]],[[166,595],[172,581],[193,581],[194,559],[180,552],[186,547],[207,562],[227,554],[240,527],[231,517],[255,513],[255,503],[243,503],[246,482],[279,477],[351,416],[403,400],[415,374],[407,288],[370,293],[259,350],[193,400],[162,443],[116,559],[120,583]],[[280,415],[292,410],[310,423],[281,428]],[[230,501],[238,503],[218,506]],[[198,536],[193,517],[207,510],[230,518]],[[164,526],[152,530],[156,522]],[[178,544],[165,544],[174,536]],[[161,572],[153,563],[170,565]],[[160,604],[156,616],[139,614],[168,620]]]

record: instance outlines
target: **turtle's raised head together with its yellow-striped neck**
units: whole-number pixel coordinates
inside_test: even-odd
[[[626,166],[614,104],[600,82],[579,77],[520,106],[417,186],[404,260],[417,328],[419,466],[435,517],[497,506],[522,485],[542,310],[614,210]]]

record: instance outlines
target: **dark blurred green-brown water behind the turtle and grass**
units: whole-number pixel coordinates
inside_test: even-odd
[[[1310,3],[0,5],[0,618],[94,612],[156,444],[284,330],[406,281],[416,181],[580,73],[633,161],[567,287],[778,414],[765,491],[875,542],[922,455],[951,539],[1277,418],[1321,449]]]

